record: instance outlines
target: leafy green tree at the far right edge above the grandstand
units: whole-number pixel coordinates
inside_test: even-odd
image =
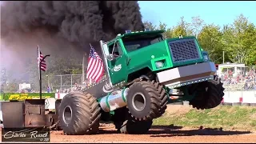
[[[255,51],[255,26],[240,14],[230,26],[223,30],[223,40],[232,62],[252,64]]]

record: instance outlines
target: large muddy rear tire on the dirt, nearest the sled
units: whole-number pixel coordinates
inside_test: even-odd
[[[59,106],[58,118],[67,135],[97,134],[101,108],[91,94],[67,94]]]

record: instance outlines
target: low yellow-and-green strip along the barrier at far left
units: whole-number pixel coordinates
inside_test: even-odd
[[[39,99],[40,94],[39,93],[4,93],[1,94],[1,98],[4,101],[9,100],[19,100],[23,101],[25,99]],[[42,98],[55,98],[55,93],[42,93]]]

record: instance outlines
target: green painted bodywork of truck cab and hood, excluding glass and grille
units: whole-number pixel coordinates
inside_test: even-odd
[[[138,72],[138,70],[149,69],[153,72],[162,70],[169,70],[178,66],[186,66],[194,63],[205,62],[203,54],[208,55],[198,44],[198,40],[194,36],[184,37],[182,39],[193,39],[196,44],[199,58],[194,60],[187,60],[184,62],[174,62],[171,58],[170,46],[168,42],[180,40],[180,38],[162,39],[160,42],[144,46],[137,50],[128,50],[125,46],[127,38],[134,38],[132,41],[138,41],[143,35],[151,35],[155,38],[162,38],[164,30],[141,31],[130,34],[120,34],[116,38],[107,42],[107,46],[115,46],[114,51],[118,50],[119,56],[114,60],[107,60],[108,70],[110,74],[110,81],[113,85],[119,82],[127,82],[130,74]],[[118,44],[118,45],[117,45]],[[109,51],[111,54],[112,51]],[[161,61],[164,63],[162,68],[157,68],[155,62]],[[118,69],[117,69],[118,68]]]

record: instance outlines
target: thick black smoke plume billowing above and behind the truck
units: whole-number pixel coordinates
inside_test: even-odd
[[[137,1],[2,2],[0,63],[22,65],[35,57],[37,45],[51,58],[71,51],[81,56],[89,43],[98,50],[100,39],[143,29]]]

